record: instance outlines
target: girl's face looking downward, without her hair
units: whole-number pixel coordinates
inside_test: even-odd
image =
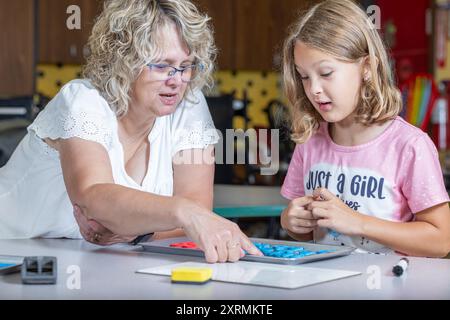
[[[338,123],[355,111],[362,83],[362,63],[337,60],[301,41],[294,47],[295,67],[303,88],[322,118]]]

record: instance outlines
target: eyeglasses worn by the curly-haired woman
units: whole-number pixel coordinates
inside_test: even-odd
[[[180,68],[161,63],[149,63],[147,66],[152,71],[152,76],[156,81],[167,81],[175,77],[177,72],[179,72],[181,74],[181,81],[191,82],[197,79],[198,75],[203,71],[202,64],[191,64]]]

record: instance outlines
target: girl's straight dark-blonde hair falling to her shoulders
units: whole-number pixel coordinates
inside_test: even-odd
[[[283,82],[289,101],[292,140],[305,143],[318,129],[322,116],[314,109],[295,69],[297,41],[347,62],[368,57],[371,78],[363,81],[355,120],[364,125],[395,118],[402,108],[383,42],[365,12],[349,0],[327,0],[291,27],[283,48]]]

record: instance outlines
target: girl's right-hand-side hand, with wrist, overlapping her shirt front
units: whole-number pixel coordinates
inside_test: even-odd
[[[349,236],[363,235],[364,216],[343,203],[325,188],[318,188],[313,192],[314,199],[309,205],[314,217],[319,218],[317,225],[329,228]]]

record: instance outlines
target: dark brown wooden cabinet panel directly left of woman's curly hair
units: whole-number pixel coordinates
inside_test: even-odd
[[[84,63],[85,45],[94,25],[94,19],[101,12],[100,0],[39,0],[39,63]],[[77,6],[80,10],[80,28],[70,29],[69,20],[74,22]],[[70,24],[69,24],[70,25]]]

